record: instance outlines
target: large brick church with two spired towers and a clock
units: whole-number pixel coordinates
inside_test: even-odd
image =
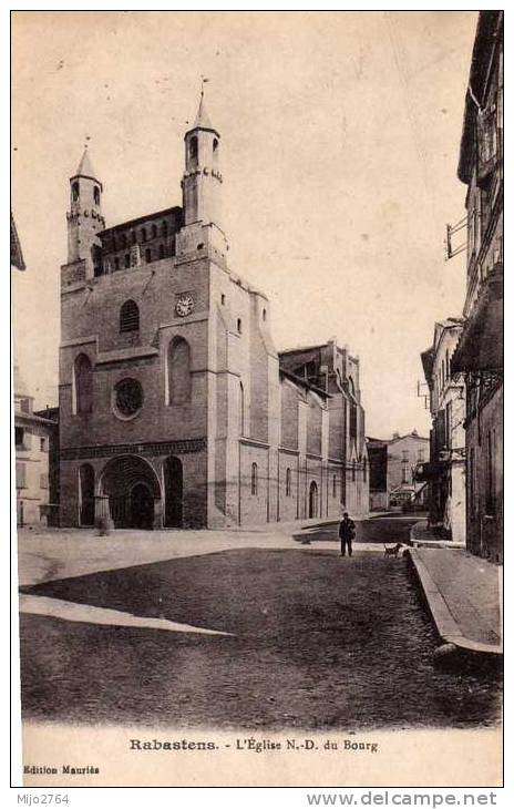
[[[182,207],[105,227],[88,150],[61,270],[61,525],[213,528],[369,506],[359,360],[278,354],[229,267],[220,135],[202,98]]]

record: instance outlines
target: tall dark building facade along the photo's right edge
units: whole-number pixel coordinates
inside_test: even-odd
[[[452,373],[466,390],[466,545],[503,560],[503,11],[481,11],[458,170],[466,185],[464,326]]]

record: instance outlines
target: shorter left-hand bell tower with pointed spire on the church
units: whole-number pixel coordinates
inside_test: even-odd
[[[68,218],[68,263],[85,260],[85,275],[94,275],[97,234],[105,228],[102,216],[103,186],[96,178],[88,146],[75,174],[70,178],[70,211]]]

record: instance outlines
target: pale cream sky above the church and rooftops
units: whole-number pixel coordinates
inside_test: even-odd
[[[13,12],[14,350],[58,401],[69,177],[84,143],[106,226],[179,205],[198,105],[219,131],[230,267],[270,299],[277,349],[337,337],[361,362],[367,433],[430,419],[434,321],[462,314],[456,177],[475,11]]]

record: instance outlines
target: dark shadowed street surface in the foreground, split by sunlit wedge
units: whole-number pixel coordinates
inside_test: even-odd
[[[404,559],[236,549],[24,587],[223,635],[21,615],[27,718],[270,728],[493,725],[494,675],[434,668]]]

